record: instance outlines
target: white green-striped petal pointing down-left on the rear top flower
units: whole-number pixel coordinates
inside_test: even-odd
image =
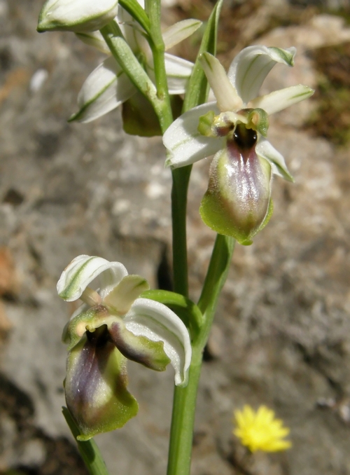
[[[107,58],[87,77],[78,94],[79,111],[70,121],[87,123],[116,109],[136,88],[113,57]]]

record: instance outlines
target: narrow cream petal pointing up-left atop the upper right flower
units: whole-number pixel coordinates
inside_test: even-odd
[[[211,89],[214,91],[218,108],[221,112],[237,111],[243,105],[237,90],[228,80],[228,76],[221,62],[210,53],[203,53],[200,64],[204,69]]]

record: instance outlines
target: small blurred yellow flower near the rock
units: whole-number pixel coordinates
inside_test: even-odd
[[[275,419],[274,411],[266,406],[260,406],[255,412],[245,405],[241,411],[234,411],[234,415],[237,428],[233,433],[251,452],[278,452],[292,446],[290,441],[283,440],[290,430],[283,427],[283,421]]]

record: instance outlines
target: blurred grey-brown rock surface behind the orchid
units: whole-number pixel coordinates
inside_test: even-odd
[[[73,34],[37,34],[42,0],[0,0],[0,474],[85,475],[61,414],[73,308],[55,284],[78,254],[122,261],[152,287],[171,286],[169,192],[160,138],[130,137],[120,111],[67,124],[99,53]],[[165,23],[205,20],[209,0],[168,1]],[[237,246],[206,351],[193,475],[350,474],[350,6],[347,0],[226,1],[218,55],[297,47],[265,90],[304,83],[314,99],[276,115],[269,138],[295,184],[276,179],[274,215]],[[179,50],[193,59],[199,38]],[[198,214],[210,160],[190,184],[191,296],[214,242]],[[96,438],[111,475],[165,474],[172,371],[130,364],[140,404]],[[293,448],[244,457],[232,411],[266,404]]]

